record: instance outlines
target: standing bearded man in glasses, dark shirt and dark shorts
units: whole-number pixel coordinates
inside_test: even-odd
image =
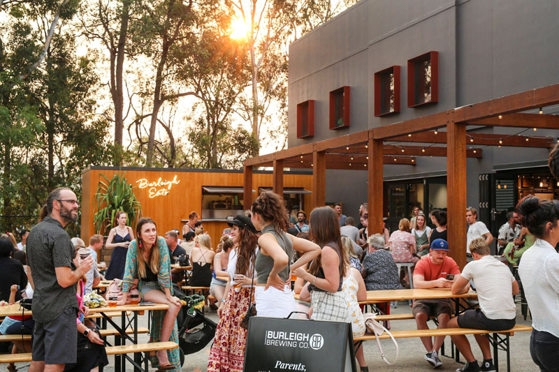
[[[30,372],[64,371],[65,364],[76,362],[80,309],[75,283],[94,265],[92,255],[78,267],[73,264],[75,250],[64,227],[78,221],[78,207],[69,188],[55,189],[27,238],[27,260],[35,284]]]

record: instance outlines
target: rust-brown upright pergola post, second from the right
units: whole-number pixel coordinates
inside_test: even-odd
[[[384,164],[384,142],[375,140],[372,137],[372,131],[369,132],[369,159],[368,159],[368,214],[369,214],[369,235],[382,234],[382,190],[383,181],[383,164]]]

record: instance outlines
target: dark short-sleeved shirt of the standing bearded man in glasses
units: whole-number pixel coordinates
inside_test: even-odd
[[[55,320],[70,307],[78,309],[76,285],[62,288],[55,271],[56,267],[75,269],[73,258],[72,241],[62,224],[55,218],[43,218],[43,221],[29,232],[27,260],[35,284],[32,306],[33,318],[37,322]]]

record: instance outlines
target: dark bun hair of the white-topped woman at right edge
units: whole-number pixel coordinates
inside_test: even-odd
[[[516,211],[520,215],[520,223],[530,230],[530,234],[538,239],[549,235],[546,224],[556,225],[559,219],[558,200],[539,200],[534,195],[528,195],[516,204]]]

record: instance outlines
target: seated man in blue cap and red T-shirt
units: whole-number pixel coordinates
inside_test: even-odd
[[[448,275],[459,275],[460,268],[456,262],[447,256],[449,244],[444,239],[435,239],[431,242],[430,254],[417,262],[414,269],[414,288],[451,288],[453,280]],[[467,291],[469,288],[465,288]],[[412,306],[412,313],[417,329],[429,329],[427,322],[430,317],[436,317],[439,328],[446,328],[452,315],[452,306],[449,299],[417,299]],[[421,337],[421,342],[427,350],[425,359],[433,368],[442,366],[439,359],[439,350],[444,341],[444,336]]]

